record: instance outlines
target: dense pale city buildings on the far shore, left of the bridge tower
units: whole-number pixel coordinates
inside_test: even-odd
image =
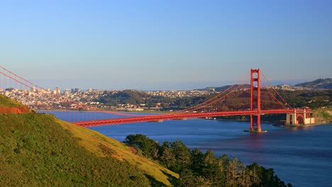
[[[67,110],[89,110],[91,108],[111,108],[113,110],[121,111],[143,111],[147,108],[144,103],[133,105],[131,103],[119,104],[118,106],[107,106],[99,102],[99,98],[109,94],[117,94],[119,91],[103,91],[88,89],[87,91],[80,91],[79,89],[65,89],[60,90],[56,87],[52,91],[37,90],[19,90],[6,89],[1,90],[0,94],[15,99],[35,110],[45,109],[67,109]],[[209,94],[209,91],[141,91],[149,96],[163,96],[168,98],[182,98],[191,96],[203,96]],[[162,103],[157,103],[150,109],[158,110]]]

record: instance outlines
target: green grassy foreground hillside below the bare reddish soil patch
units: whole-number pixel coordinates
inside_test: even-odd
[[[0,115],[0,186],[170,186],[177,174],[46,114]]]

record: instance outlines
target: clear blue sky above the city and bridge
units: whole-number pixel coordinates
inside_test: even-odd
[[[331,10],[328,0],[0,0],[0,64],[51,88],[194,89],[258,67],[272,80],[328,78]]]

